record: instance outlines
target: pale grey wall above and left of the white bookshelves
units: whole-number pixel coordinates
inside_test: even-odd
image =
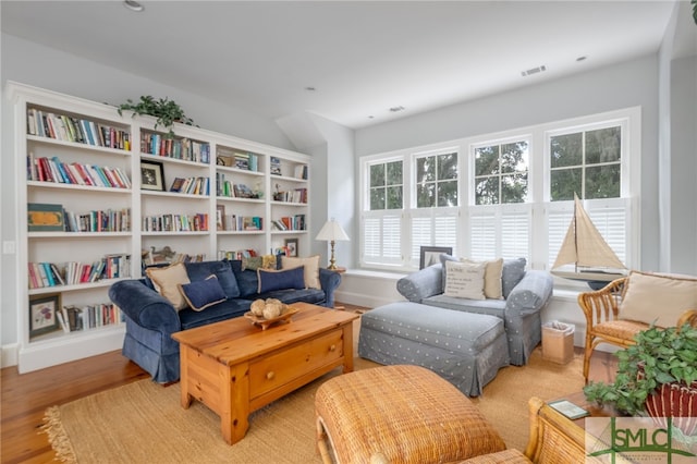
[[[146,78],[124,73],[60,50],[42,47],[14,36],[2,34],[2,147],[0,170],[0,216],[2,243],[16,242],[15,183],[13,175],[16,161],[12,146],[12,108],[7,101],[7,81],[42,87],[54,91],[105,101],[112,105],[137,100],[140,95],[156,98],[169,97],[180,103],[189,118],[201,127],[260,142],[280,148],[295,149],[289,138],[273,122],[256,114],[204,99],[197,95],[168,87]],[[321,224],[320,224],[321,225]],[[0,345],[16,343],[17,319],[15,301],[16,255],[3,254],[0,282]],[[3,351],[4,352],[4,351]],[[2,361],[8,364],[8,359]]]

